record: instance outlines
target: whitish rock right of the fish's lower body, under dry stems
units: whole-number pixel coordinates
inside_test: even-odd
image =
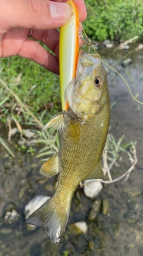
[[[102,183],[98,180],[85,180],[83,191],[86,197],[95,198],[102,190]]]

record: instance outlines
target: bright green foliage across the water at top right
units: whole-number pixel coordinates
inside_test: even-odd
[[[143,37],[142,0],[85,0],[88,18],[83,28],[93,40]]]

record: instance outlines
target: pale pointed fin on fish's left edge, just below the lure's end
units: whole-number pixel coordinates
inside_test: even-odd
[[[57,129],[57,131],[62,132],[63,122],[64,122],[64,116],[63,116],[63,112],[61,112],[58,115],[53,116],[51,120],[48,122],[48,124],[45,125],[44,129],[53,127],[54,129]]]

